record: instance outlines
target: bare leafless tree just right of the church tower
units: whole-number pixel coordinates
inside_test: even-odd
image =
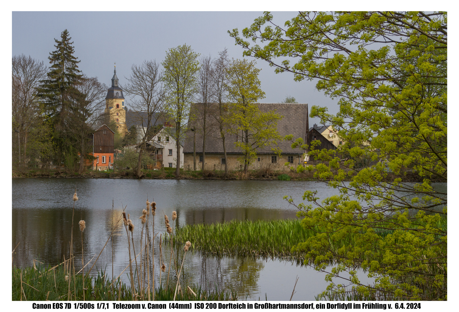
[[[131,66],[132,74],[126,78],[128,84],[124,86],[127,94],[132,96],[131,107],[137,111],[139,124],[144,129],[143,137],[140,139],[139,160],[137,164],[137,175],[141,175],[142,152],[149,139],[150,129],[155,126],[152,123],[154,113],[162,112],[164,102],[164,89],[162,87],[162,71],[156,60],[146,60],[140,66]],[[143,147],[143,148],[142,148]]]

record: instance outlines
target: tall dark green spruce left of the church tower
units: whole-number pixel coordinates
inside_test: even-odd
[[[64,159],[69,165],[72,159],[76,159],[76,150],[72,148],[71,135],[72,127],[69,127],[70,118],[73,114],[74,103],[80,97],[77,86],[82,82],[83,75],[78,70],[78,57],[73,55],[74,47],[72,38],[64,30],[61,33],[61,40],[54,41],[56,50],[50,53],[50,71],[47,78],[41,81],[39,94],[44,102],[45,113],[50,119],[54,133],[53,138],[57,146],[57,154],[54,160],[58,165]]]

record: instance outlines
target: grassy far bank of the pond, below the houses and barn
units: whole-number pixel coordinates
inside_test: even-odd
[[[312,180],[312,174],[301,173],[295,171],[266,171],[266,170],[249,170],[244,174],[241,170],[229,171],[228,175],[224,170],[205,170],[204,172],[193,170],[180,170],[180,179],[226,179],[226,180],[279,180],[278,176],[283,178],[280,180],[288,180],[285,176],[290,176],[290,180],[308,181]],[[107,170],[107,171],[92,171],[87,170],[82,174],[67,170],[24,170],[13,171],[13,178],[39,178],[39,177],[54,177],[54,178],[121,178],[121,179],[139,179],[133,170]],[[162,168],[160,170],[142,170],[140,179],[176,179],[175,168]]]

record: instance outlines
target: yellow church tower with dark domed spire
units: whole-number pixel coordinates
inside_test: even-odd
[[[107,126],[115,127],[118,133],[125,135],[126,129],[126,110],[124,106],[123,90],[119,87],[118,77],[116,76],[116,66],[112,78],[112,88],[108,89],[105,98],[105,110]],[[113,129],[115,131],[115,129]]]

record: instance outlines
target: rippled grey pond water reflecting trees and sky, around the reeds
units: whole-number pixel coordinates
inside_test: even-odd
[[[30,266],[33,259],[37,259],[56,265],[64,256],[68,257],[75,188],[79,200],[75,203],[73,224],[74,253],[76,259],[81,259],[78,221],[83,219],[86,222],[83,235],[85,263],[101,252],[113,223],[123,211],[122,207],[131,214],[136,252],[139,252],[138,238],[142,226],[138,218],[145,208],[147,196],[157,203],[155,233],[164,233],[163,213],[168,214],[172,222],[173,210],[178,214],[174,226],[233,219],[291,219],[296,218],[297,209],[283,200],[283,196],[291,196],[299,203],[306,190],[318,190],[320,198],[337,192],[325,183],[314,181],[13,179],[12,249],[19,244],[13,254],[13,264]],[[127,236],[121,225],[122,222],[115,230],[113,242],[108,241],[92,274],[97,273],[96,269],[105,269],[111,276],[113,269],[114,275],[118,276],[128,266]],[[156,283],[159,279],[158,245],[159,235],[155,239]],[[182,246],[177,246],[175,252],[179,253],[179,259],[182,258],[181,250]],[[163,249],[163,255],[168,266],[169,252]],[[81,266],[78,261],[75,261],[76,269]],[[127,272],[129,269],[121,275],[125,282],[128,282]],[[162,281],[165,284],[164,275]],[[314,300],[314,296],[325,290],[328,284],[324,280],[325,273],[279,258],[216,258],[199,252],[191,252],[185,257],[180,279],[183,277],[182,285],[201,285],[211,290],[215,287],[233,289],[240,300],[289,300],[296,276],[299,277],[297,293],[292,300]],[[363,272],[359,277],[361,281],[371,283]]]

